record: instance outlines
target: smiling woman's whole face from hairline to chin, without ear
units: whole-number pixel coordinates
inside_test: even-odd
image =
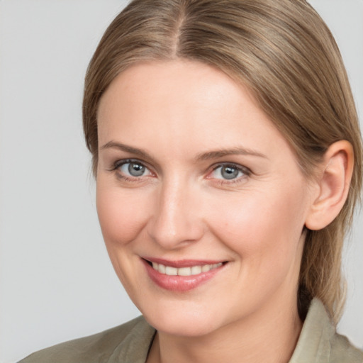
[[[284,137],[213,67],[135,65],[101,99],[101,229],[157,330],[203,335],[296,309],[312,199]]]

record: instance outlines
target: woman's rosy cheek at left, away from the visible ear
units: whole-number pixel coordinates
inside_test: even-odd
[[[106,245],[132,242],[147,220],[147,198],[97,184],[96,206]]]

